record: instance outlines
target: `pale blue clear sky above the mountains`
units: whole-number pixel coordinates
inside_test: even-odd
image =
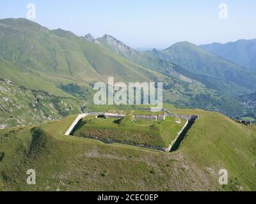
[[[255,0],[1,0],[0,18],[26,17],[28,3],[36,6],[33,21],[49,29],[111,34],[134,48],[256,38]],[[228,19],[218,17],[220,3],[228,5]]]

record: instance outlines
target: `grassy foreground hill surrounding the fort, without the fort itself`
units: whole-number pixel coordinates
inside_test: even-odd
[[[0,131],[1,190],[244,190],[256,189],[255,126],[248,128],[219,113],[200,115],[173,154],[97,140],[62,136],[74,117]],[[33,141],[33,142],[32,142]],[[36,185],[26,171],[36,170]],[[227,168],[232,183],[218,184]],[[235,179],[237,178],[237,180]],[[237,183],[237,185],[235,184]]]

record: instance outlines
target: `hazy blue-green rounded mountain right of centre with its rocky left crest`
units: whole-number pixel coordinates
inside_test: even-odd
[[[253,80],[255,80],[256,75],[254,73],[250,73],[249,69],[243,69],[242,67],[240,67],[237,64],[234,64],[230,61],[227,61],[223,58],[221,58],[220,56],[216,55],[216,54],[211,54],[210,52],[207,52],[206,50],[194,45],[193,43],[189,43],[188,41],[183,41],[183,42],[179,42],[179,43],[175,43],[172,46],[164,49],[163,51],[159,51],[156,49],[150,50],[150,51],[145,51],[145,52],[138,52],[140,54],[141,57],[138,56],[132,56],[129,52],[129,50],[124,50],[126,47],[129,47],[127,45],[123,46],[123,48],[119,49],[118,46],[115,46],[115,44],[111,44],[111,41],[108,40],[102,40],[102,38],[98,38],[100,39],[100,43],[102,43],[104,46],[108,47],[110,50],[116,52],[119,55],[122,55],[123,57],[125,57],[126,59],[136,62],[136,63],[140,63],[142,66],[147,66],[150,67],[156,71],[160,71],[161,73],[164,74],[168,74],[168,69],[171,70],[171,74],[175,74],[176,75],[183,75],[185,77],[194,79],[194,80],[199,80],[199,82],[202,82],[203,84],[205,83],[205,79],[207,78],[215,78],[214,80],[216,80],[215,84],[212,84],[211,80],[207,80],[207,84],[209,84],[209,88],[215,87],[217,83],[220,83],[221,80],[226,80],[229,84],[229,86],[231,86],[230,88],[228,88],[228,90],[230,91],[230,94],[235,94],[236,92],[232,91],[232,90],[240,90],[239,93],[243,94],[244,91],[246,91],[246,89],[252,89],[252,91],[255,91],[256,86],[253,84],[248,84],[248,81],[252,81],[252,80],[248,80],[247,77],[248,75],[252,75],[254,77],[252,77]],[[118,41],[120,40],[116,40],[116,38],[112,38],[115,40],[116,43],[118,43]],[[122,43],[123,45],[124,43]],[[184,59],[185,63],[182,62],[183,60],[183,56],[182,56],[182,52],[180,50],[177,50],[177,48],[186,48],[186,52],[188,53],[188,48],[189,50],[189,54],[194,54],[189,56],[191,59],[194,58],[198,58],[198,56],[200,57],[200,55],[207,56],[208,58],[211,59],[211,61],[214,61],[215,63],[217,62],[218,65],[220,66],[220,68],[218,69],[218,72],[221,73],[221,75],[215,75],[215,71],[213,68],[213,66],[211,65],[211,62],[207,62],[205,61],[205,59],[201,58],[198,59],[199,62],[200,61],[204,61],[204,64],[196,64],[197,62],[194,62],[194,64],[189,65],[188,66],[188,62],[186,62],[186,59]],[[129,47],[131,48],[131,47]],[[172,53],[168,53],[168,50],[175,50]],[[178,58],[175,59],[175,52],[177,51],[177,53],[179,53],[180,56],[177,56]],[[191,61],[191,59],[188,59],[189,61]],[[150,62],[151,61],[151,62]],[[154,63],[152,63],[154,61]],[[143,63],[144,62],[144,63]],[[152,65],[154,64],[154,65]],[[198,66],[199,68],[204,68],[204,67],[208,67],[207,69],[204,69],[202,71],[200,71],[199,69],[195,69],[196,66]],[[226,68],[228,67],[228,68]],[[189,69],[188,69],[189,68]],[[225,69],[225,72],[229,71],[230,77],[225,77],[225,72],[222,71],[221,69]],[[183,71],[180,71],[183,70]],[[209,71],[211,73],[209,73]],[[193,74],[189,73],[189,72],[193,72]],[[250,74],[243,75],[241,77],[236,77],[236,75],[239,74],[239,72],[248,72]],[[169,73],[170,74],[170,73]],[[205,76],[205,79],[202,79],[202,77],[200,76]],[[241,75],[241,74],[239,74]],[[242,78],[242,80],[241,80]],[[255,81],[256,82],[256,81]],[[237,84],[237,85],[235,85]],[[220,85],[218,85],[220,87]],[[225,88],[225,89],[226,89]],[[225,89],[218,89],[218,91],[223,91]]]

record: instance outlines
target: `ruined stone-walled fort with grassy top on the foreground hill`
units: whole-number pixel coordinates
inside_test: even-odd
[[[136,114],[143,112],[145,114]],[[177,119],[180,121],[177,122]],[[127,114],[122,112],[82,113],[77,115],[65,135],[170,152],[173,147],[179,147],[184,138],[182,133],[188,131],[197,119],[197,115],[177,115],[166,110],[161,110],[159,113],[147,113],[147,110],[132,111]],[[167,141],[169,143],[166,143]]]

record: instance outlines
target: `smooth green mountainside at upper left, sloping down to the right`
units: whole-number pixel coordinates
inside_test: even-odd
[[[24,18],[8,18],[0,23],[0,57],[25,70],[79,82],[106,82],[109,76],[124,82],[148,82],[156,78],[153,71],[70,31],[51,31]]]

